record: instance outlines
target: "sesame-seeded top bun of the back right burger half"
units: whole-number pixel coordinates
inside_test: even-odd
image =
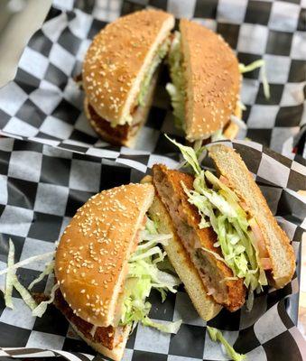
[[[241,75],[234,51],[220,35],[186,19],[180,30],[187,79],[186,134],[192,142],[227,124],[235,113]]]

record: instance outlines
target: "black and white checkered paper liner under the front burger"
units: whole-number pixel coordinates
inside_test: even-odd
[[[306,169],[300,163],[264,149],[258,143],[228,143],[241,153],[255,175],[269,206],[292,239],[298,255],[306,206],[295,192],[301,189]],[[170,151],[172,152],[172,147]],[[119,184],[140,180],[153,162],[164,162],[156,155],[102,159],[59,150],[40,143],[13,139],[0,140],[0,267],[5,267],[8,238],[16,248],[15,261],[54,250],[54,242],[67,226],[77,208],[91,195]],[[170,166],[176,165],[172,160]],[[209,162],[205,162],[209,166]],[[29,264],[17,271],[28,285],[42,271],[44,262]],[[1,277],[0,286],[4,286]],[[50,290],[48,282],[35,285],[34,292]],[[255,298],[252,312],[230,313],[222,310],[209,325],[224,330],[236,350],[248,360],[300,361],[303,355],[301,334],[288,316],[291,294],[298,292],[298,278],[283,290],[269,289]],[[183,319],[177,335],[160,333],[138,326],[128,341],[125,361],[224,360],[220,346],[213,343],[181,286],[164,303],[156,292],[151,295],[151,317],[160,320]],[[93,350],[76,338],[68,322],[50,306],[42,319],[32,318],[14,292],[14,310],[5,309],[0,298],[0,359],[5,356],[62,356],[69,360],[91,359]],[[296,310],[292,311],[292,317]],[[303,346],[304,345],[304,346]],[[18,348],[17,348],[18,347]],[[22,347],[22,348],[19,348]],[[52,351],[53,350],[53,351]],[[57,350],[57,351],[54,351]],[[61,351],[60,351],[61,350]],[[281,359],[281,358],[280,358]]]

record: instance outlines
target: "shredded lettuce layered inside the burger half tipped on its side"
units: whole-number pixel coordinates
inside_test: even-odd
[[[195,174],[193,190],[188,190],[183,183],[182,187],[190,204],[198,208],[201,216],[199,228],[212,227],[216,232],[218,242],[214,246],[221,250],[224,262],[234,276],[244,279],[249,291],[246,306],[251,309],[253,292],[262,291],[267,280],[246,211],[240,206],[239,198],[233,190],[210,171],[201,170],[192,148],[175,141],[172,143],[180,148],[185,161]],[[207,249],[203,248],[203,251],[207,252]]]

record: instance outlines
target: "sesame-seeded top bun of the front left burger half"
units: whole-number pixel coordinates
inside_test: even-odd
[[[153,195],[150,184],[104,190],[78,209],[61,236],[55,276],[81,319],[103,327],[114,323],[127,262]]]

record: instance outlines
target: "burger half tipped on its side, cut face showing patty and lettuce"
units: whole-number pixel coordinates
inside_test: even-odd
[[[165,250],[203,319],[221,307],[238,310],[246,299],[251,309],[254,292],[292,280],[290,240],[239,154],[225,145],[209,146],[216,177],[201,170],[192,148],[176,144],[192,174],[155,164],[151,180],[152,217],[160,231],[173,234]]]

